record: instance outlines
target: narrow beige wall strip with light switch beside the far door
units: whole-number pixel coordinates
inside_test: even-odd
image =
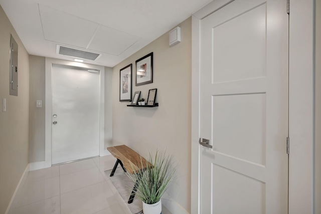
[[[29,56],[29,162],[45,160],[45,57]],[[42,100],[42,108],[36,107]]]

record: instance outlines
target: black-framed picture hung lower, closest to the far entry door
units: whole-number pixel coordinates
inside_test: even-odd
[[[119,101],[131,101],[131,71],[132,64],[120,69]]]

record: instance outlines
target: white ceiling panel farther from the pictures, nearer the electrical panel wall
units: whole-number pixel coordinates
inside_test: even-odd
[[[45,40],[86,48],[98,24],[39,5]]]

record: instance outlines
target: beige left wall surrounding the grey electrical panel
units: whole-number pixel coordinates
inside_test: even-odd
[[[0,213],[28,165],[29,56],[0,7],[0,103],[7,99],[7,111],[0,110]],[[18,43],[18,97],[9,95],[10,34]]]

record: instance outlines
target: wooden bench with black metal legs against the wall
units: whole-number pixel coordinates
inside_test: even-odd
[[[147,164],[151,165],[145,158],[140,156],[137,152],[132,150],[126,145],[120,145],[120,146],[111,146],[108,147],[107,150],[115,157],[117,158],[116,163],[114,165],[114,168],[112,169],[110,176],[113,176],[116,168],[118,166],[118,163],[122,167],[122,169],[128,173],[134,174],[139,173],[142,170],[145,170],[147,168]],[[136,181],[133,190],[131,191],[128,203],[132,203],[135,197],[135,193],[137,190],[138,183]]]

